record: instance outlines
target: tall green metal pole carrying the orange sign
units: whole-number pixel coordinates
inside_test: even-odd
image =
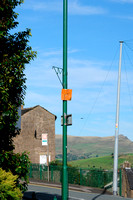
[[[67,0],[63,0],[63,89],[67,89]],[[67,101],[63,100],[63,176],[62,200],[68,199]]]

